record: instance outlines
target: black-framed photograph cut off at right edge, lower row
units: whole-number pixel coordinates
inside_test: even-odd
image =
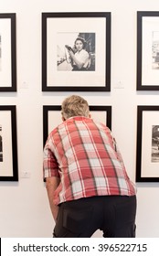
[[[159,106],[138,106],[136,181],[159,182]]]

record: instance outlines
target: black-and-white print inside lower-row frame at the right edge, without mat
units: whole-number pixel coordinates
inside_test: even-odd
[[[159,125],[152,126],[152,162],[159,163]]]

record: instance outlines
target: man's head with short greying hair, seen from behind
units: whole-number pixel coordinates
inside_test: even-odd
[[[63,120],[72,116],[90,117],[88,102],[78,95],[71,95],[66,98],[62,102],[61,109]]]

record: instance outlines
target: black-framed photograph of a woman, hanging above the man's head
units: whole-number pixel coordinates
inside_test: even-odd
[[[42,13],[42,91],[111,91],[111,13]]]

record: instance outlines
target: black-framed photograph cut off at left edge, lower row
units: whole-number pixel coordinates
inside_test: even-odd
[[[0,181],[17,181],[16,106],[0,106]]]

